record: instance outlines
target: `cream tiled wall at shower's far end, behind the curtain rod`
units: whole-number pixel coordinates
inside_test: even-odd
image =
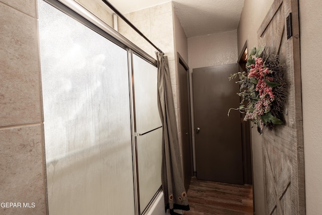
[[[179,81],[176,70],[176,50],[174,41],[174,14],[172,2],[157,5],[151,8],[135,11],[124,16],[138,28],[152,43],[168,56],[172,90],[177,116],[179,144],[181,146],[181,121],[179,109]],[[118,18],[118,31],[139,48],[155,58],[156,51],[144,38],[137,34],[122,19]],[[178,114],[179,113],[179,114]],[[182,155],[181,155],[182,156]]]

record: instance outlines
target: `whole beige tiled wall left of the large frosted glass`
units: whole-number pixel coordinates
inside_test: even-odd
[[[0,214],[46,214],[36,0],[0,11]]]

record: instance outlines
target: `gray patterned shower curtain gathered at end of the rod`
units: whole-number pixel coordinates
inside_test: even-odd
[[[163,125],[162,137],[162,188],[166,211],[176,214],[174,209],[189,210],[184,187],[180,159],[178,129],[168,57],[156,52],[157,58],[157,105]]]

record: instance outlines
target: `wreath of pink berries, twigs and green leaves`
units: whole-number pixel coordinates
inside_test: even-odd
[[[277,54],[265,47],[254,47],[249,53],[245,71],[232,74],[229,81],[239,77],[238,96],[241,102],[240,113],[246,113],[244,120],[250,120],[262,133],[264,128],[270,130],[277,124],[283,124],[283,105],[287,96],[287,84],[284,79],[283,66]],[[246,105],[245,105],[246,104]]]

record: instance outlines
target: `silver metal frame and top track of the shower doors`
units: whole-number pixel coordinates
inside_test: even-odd
[[[133,53],[157,66],[156,60],[148,55],[145,51],[140,49],[130,40],[125,38],[123,35],[115,31],[112,27],[98,19],[91,12],[86,10],[84,7],[79,5],[73,0],[43,0],[48,4],[52,5],[61,12],[67,14],[98,34],[102,35],[111,42],[117,44],[123,49],[127,50],[128,55],[128,80],[129,80],[129,100],[130,100],[130,116],[131,116],[131,141],[132,141],[132,159],[133,159],[133,185],[134,185],[134,207],[135,215],[140,213],[140,203],[139,203],[139,181],[138,181],[138,163],[137,163],[137,145],[136,145],[136,121],[135,121],[135,96],[134,96],[134,83],[133,83]],[[47,182],[46,182],[47,186]],[[156,197],[160,194],[162,188],[160,187],[157,192],[152,197],[151,201],[147,207],[142,211],[145,214],[149,207],[156,200]],[[46,193],[47,196],[47,193]],[[46,197],[47,198],[47,197]],[[48,201],[48,198],[47,198]],[[48,207],[48,204],[47,204]],[[48,210],[48,208],[47,208]]]

